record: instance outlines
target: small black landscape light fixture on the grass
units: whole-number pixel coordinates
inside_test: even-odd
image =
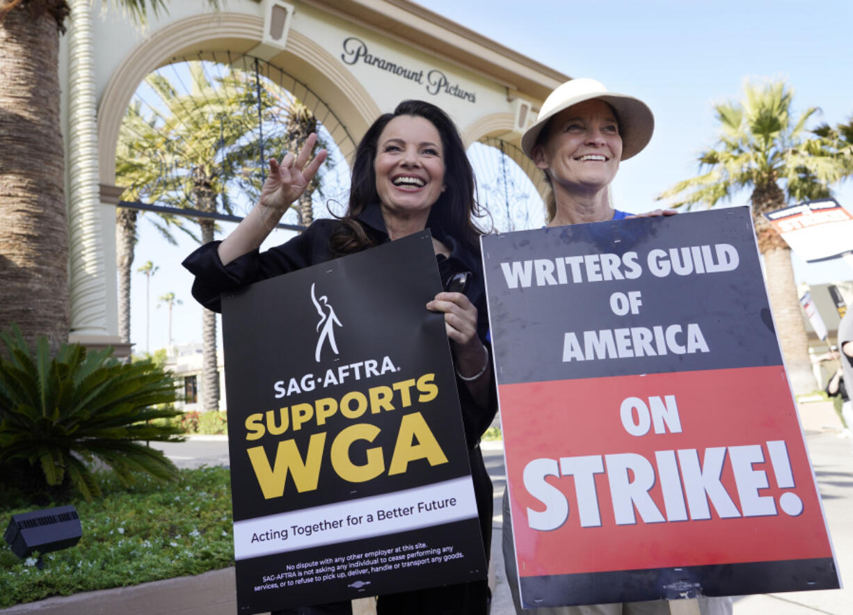
[[[73,547],[80,542],[82,536],[83,528],[80,526],[77,509],[73,506],[13,514],[9,527],[3,534],[12,553],[21,560],[29,557],[33,551],[38,551],[36,564],[39,569],[44,566],[42,555]]]

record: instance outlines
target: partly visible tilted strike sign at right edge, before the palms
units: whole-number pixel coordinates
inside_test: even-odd
[[[764,216],[806,263],[853,252],[853,215],[835,199],[806,200]]]

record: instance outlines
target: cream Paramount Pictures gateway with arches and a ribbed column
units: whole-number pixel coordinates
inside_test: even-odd
[[[443,107],[467,145],[517,146],[566,75],[408,0],[229,0],[213,12],[169,3],[139,29],[113,8],[72,0],[61,40],[71,235],[70,339],[120,347],[115,266],[115,150],[125,109],[148,73],[174,58],[251,55],[316,93],[345,127],[346,155],[380,113],[404,98]],[[508,148],[511,157],[516,150]],[[525,171],[530,172],[530,171]],[[540,194],[538,174],[531,181]]]

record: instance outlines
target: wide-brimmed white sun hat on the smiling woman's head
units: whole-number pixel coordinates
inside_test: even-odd
[[[593,98],[601,99],[616,111],[619,135],[622,136],[621,160],[628,160],[631,156],[639,154],[652,138],[654,131],[652,110],[645,102],[634,96],[607,91],[606,87],[595,79],[577,78],[566,81],[548,95],[539,111],[536,124],[521,136],[521,148],[527,157],[533,158],[533,146],[536,145],[539,133],[548,124],[549,119],[563,109]]]

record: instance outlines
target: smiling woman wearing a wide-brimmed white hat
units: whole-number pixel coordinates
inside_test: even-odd
[[[622,160],[639,154],[652,138],[654,116],[645,102],[615,92],[589,78],[567,81],[551,92],[536,124],[521,137],[525,154],[551,186],[548,226],[606,222],[632,214],[612,206],[610,183]],[[658,209],[640,216],[667,216]],[[509,499],[503,498],[503,555],[515,610],[536,615],[669,615],[667,600],[589,606],[522,609],[515,570]],[[571,555],[567,555],[571,557]],[[700,598],[702,615],[728,615],[728,597]]]

